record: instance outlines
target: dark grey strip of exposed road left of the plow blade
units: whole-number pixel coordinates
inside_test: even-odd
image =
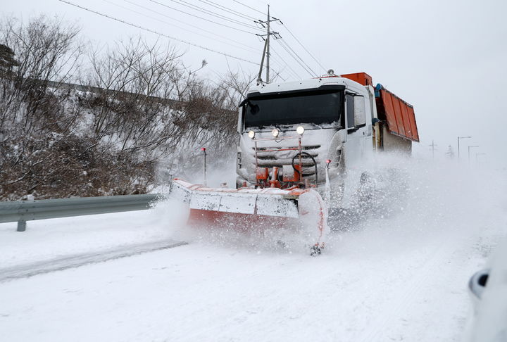
[[[70,255],[63,258],[54,258],[41,262],[32,262],[30,264],[6,267],[0,269],[0,282],[25,277],[33,277],[38,274],[68,270],[69,268],[81,267],[98,262],[127,258],[133,255],[161,251],[163,249],[175,248],[187,245],[187,242],[179,241],[159,241],[156,243],[141,243],[137,245],[122,246],[99,253],[84,253]]]

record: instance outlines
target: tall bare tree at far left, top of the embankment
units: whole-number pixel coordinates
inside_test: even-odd
[[[84,44],[79,28],[59,18],[41,15],[26,25],[12,17],[0,21],[0,42],[15,53],[18,63],[1,78],[0,129],[6,125],[29,133],[36,127],[65,127],[56,96],[79,67]]]

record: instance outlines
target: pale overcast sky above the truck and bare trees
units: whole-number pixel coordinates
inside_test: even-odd
[[[263,42],[255,33],[263,32],[256,29],[253,18],[265,20],[260,13],[267,10],[265,1],[240,1],[251,8],[234,0],[156,0],[160,4],[151,0],[68,1],[246,61],[259,63],[261,59]],[[188,8],[184,1],[225,18]],[[184,63],[192,69],[206,59],[208,65],[201,75],[213,80],[227,68],[242,68],[251,74],[258,71],[253,63],[161,37],[58,0],[1,3],[2,13],[23,20],[45,13],[77,22],[82,36],[94,46],[139,34],[151,42],[158,39],[159,44],[171,44],[184,53]],[[382,83],[414,106],[421,138],[415,151],[430,154],[427,145],[434,140],[438,154],[443,155],[449,145],[456,153],[456,137],[470,135],[472,139],[462,140],[462,158],[466,158],[468,145],[480,145],[472,160],[475,153],[487,153],[480,156],[484,162],[507,166],[507,1],[277,0],[270,5],[271,14],[284,23],[273,23],[273,30],[290,46],[284,48],[278,41],[272,44],[271,65],[285,80],[311,77],[311,71],[305,70],[308,67],[318,74],[328,68],[337,74],[368,72],[374,83]],[[221,11],[220,6],[230,12]],[[308,67],[299,65],[286,48],[292,48]]]

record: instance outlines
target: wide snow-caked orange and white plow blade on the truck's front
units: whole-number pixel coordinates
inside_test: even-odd
[[[312,251],[318,253],[329,232],[325,203],[313,189],[210,188],[176,178],[170,191],[189,205],[191,225],[234,224],[246,231],[268,227],[302,231]]]

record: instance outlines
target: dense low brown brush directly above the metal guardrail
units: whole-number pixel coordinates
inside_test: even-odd
[[[154,184],[154,163],[104,151],[93,139],[50,134],[20,136],[0,146],[0,194],[16,200],[144,194]]]

